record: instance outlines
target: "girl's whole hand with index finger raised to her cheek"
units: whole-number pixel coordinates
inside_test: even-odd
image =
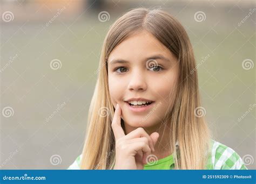
[[[112,121],[112,129],[116,139],[116,164],[114,169],[143,169],[146,158],[154,152],[159,134],[150,136],[143,128],[137,128],[125,135],[121,126],[122,109],[117,104]]]

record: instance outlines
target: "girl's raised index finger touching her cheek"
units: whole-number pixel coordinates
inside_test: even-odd
[[[119,104],[117,104],[116,110],[114,111],[113,121],[111,124],[114,132],[114,137],[116,138],[116,140],[125,136],[124,130],[121,126],[121,114],[122,110]]]

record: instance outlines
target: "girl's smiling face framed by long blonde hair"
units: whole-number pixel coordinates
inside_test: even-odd
[[[143,31],[122,41],[108,61],[111,101],[114,107],[120,105],[125,126],[159,125],[176,94],[179,71],[175,56],[151,33]],[[138,105],[146,101],[151,104]]]

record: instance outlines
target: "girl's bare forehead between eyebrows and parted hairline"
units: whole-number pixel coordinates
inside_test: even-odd
[[[116,46],[109,55],[109,61],[113,59],[144,60],[151,55],[161,54],[174,60],[171,51],[166,48],[153,34],[142,31],[126,38]]]

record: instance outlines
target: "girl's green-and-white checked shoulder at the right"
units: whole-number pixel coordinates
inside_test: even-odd
[[[210,152],[211,169],[247,169],[237,152],[213,139]]]

